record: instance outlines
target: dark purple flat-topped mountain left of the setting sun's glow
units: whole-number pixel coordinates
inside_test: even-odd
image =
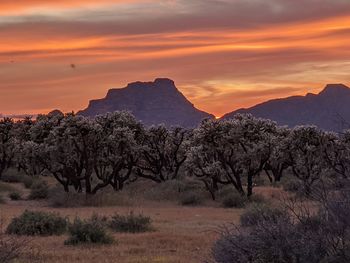
[[[94,117],[107,112],[130,111],[146,125],[195,127],[214,116],[200,111],[176,88],[174,81],[158,78],[154,82],[134,82],[125,88],[111,89],[103,99],[92,100],[78,114]]]

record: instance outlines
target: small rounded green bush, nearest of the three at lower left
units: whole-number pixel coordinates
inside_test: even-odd
[[[69,239],[65,245],[111,244],[113,237],[107,233],[104,220],[93,216],[88,220],[76,218],[68,228]]]

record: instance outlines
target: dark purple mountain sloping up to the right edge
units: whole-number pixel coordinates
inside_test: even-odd
[[[343,84],[328,84],[318,94],[274,99],[236,110],[222,118],[228,119],[237,113],[251,113],[289,127],[316,125],[328,131],[341,131],[350,128],[350,88]]]

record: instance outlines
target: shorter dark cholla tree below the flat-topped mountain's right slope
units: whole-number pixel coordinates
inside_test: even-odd
[[[137,175],[161,183],[177,179],[187,158],[190,133],[183,128],[153,126],[145,131]]]

